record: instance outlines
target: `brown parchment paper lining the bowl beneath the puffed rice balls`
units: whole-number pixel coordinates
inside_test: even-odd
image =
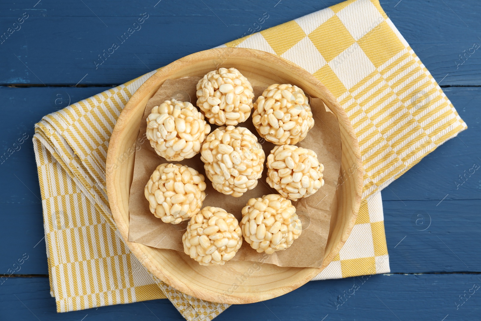
[[[147,103],[144,116],[140,121],[134,176],[130,187],[129,241],[131,242],[184,252],[182,234],[187,228],[188,221],[177,225],[162,222],[160,218],[156,218],[150,212],[149,202],[144,196],[144,187],[155,168],[162,163],[170,163],[165,158],[158,156],[151,147],[150,142],[145,138],[146,119],[152,107],[163,103],[167,99],[176,98],[182,101],[190,101],[190,103],[196,106],[195,87],[199,79],[200,77],[168,79]],[[261,95],[264,89],[262,87],[254,87],[255,97]],[[335,197],[336,184],[341,167],[341,139],[337,118],[330,111],[326,110],[320,99],[311,98],[311,109],[315,119],[314,127],[309,131],[307,137],[296,145],[316,152],[319,162],[324,165],[325,184],[315,194],[293,202],[296,212],[302,221],[303,231],[301,236],[288,249],[274,252],[267,258],[265,253],[257,253],[244,241],[232,260],[264,262],[282,267],[318,268],[322,265],[324,249],[329,235],[330,207]],[[267,159],[267,155],[269,155],[275,145],[265,141],[258,135],[251,117],[238,126],[249,128],[257,136]],[[211,125],[211,130],[214,130],[216,127]],[[264,172],[257,186],[238,198],[214,190],[211,181],[205,176],[200,154],[174,163],[190,166],[204,175],[207,184],[205,190],[207,196],[203,202],[203,207],[222,207],[229,213],[232,213],[239,221],[242,218],[241,209],[250,198],[262,197],[266,194],[277,194],[277,191],[270,188],[266,183],[266,163],[264,163]]]

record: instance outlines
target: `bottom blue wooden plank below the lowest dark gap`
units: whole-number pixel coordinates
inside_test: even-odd
[[[231,306],[215,320],[479,320],[480,286],[477,274],[316,281],[272,300]],[[0,320],[183,320],[166,299],[57,314],[47,278],[7,280],[0,302]]]

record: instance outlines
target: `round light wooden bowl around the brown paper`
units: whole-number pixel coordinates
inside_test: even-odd
[[[337,116],[341,129],[341,173],[344,183],[337,189],[332,208],[329,239],[320,269],[286,268],[262,264],[254,270],[253,262],[231,261],[221,266],[201,266],[189,256],[175,250],[157,249],[128,242],[128,196],[134,168],[139,123],[147,101],[168,78],[203,77],[219,67],[235,67],[253,86],[290,83],[311,97],[318,97]],[[191,99],[195,102],[195,97]],[[195,104],[195,103],[194,103]],[[317,125],[319,126],[319,125]],[[125,161],[118,162],[119,159]],[[310,281],[339,253],[346,242],[361,202],[363,170],[354,129],[334,96],[320,81],[296,64],[276,55],[241,48],[218,48],[193,53],[157,71],[137,90],[120,114],[107,154],[107,193],[117,228],[132,253],[165,283],[183,293],[203,300],[242,304],[259,302],[286,294]],[[229,197],[229,196],[226,196]],[[259,267],[257,265],[256,267]]]

